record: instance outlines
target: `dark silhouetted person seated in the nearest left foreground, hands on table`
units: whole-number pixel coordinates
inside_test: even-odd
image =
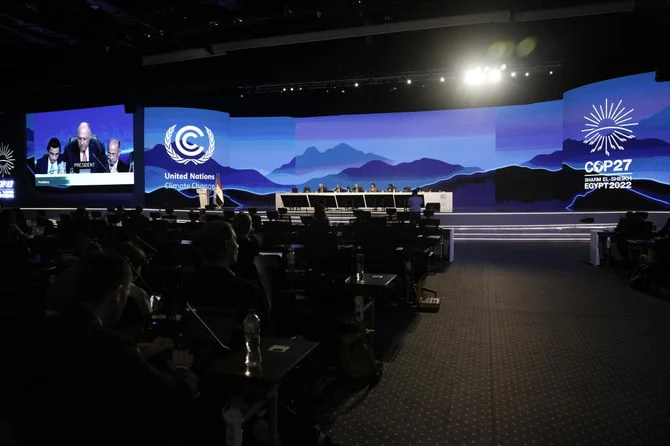
[[[100,272],[104,274],[100,274]],[[22,386],[15,415],[27,445],[187,444],[186,414],[197,379],[193,357],[174,350],[164,370],[110,330],[128,299],[132,272],[118,255],[81,259],[74,300],[56,320],[44,354]],[[152,352],[172,347],[157,339]],[[39,364],[39,367],[37,367]],[[37,423],[37,424],[36,424]]]

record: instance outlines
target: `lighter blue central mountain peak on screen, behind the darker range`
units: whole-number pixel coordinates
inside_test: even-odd
[[[291,161],[273,170],[268,177],[280,181],[284,178],[308,179],[305,175],[326,175],[337,173],[349,167],[360,167],[370,161],[393,161],[374,153],[365,153],[348,144],[340,143],[333,148],[320,152],[316,147],[308,147],[302,155],[293,157]],[[298,180],[300,181],[300,180]]]

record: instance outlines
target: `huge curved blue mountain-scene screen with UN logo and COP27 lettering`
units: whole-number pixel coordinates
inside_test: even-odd
[[[145,112],[147,201],[229,206],[371,183],[453,192],[454,211],[668,208],[670,85],[642,74],[510,107],[314,118]],[[193,204],[193,202],[191,202]]]

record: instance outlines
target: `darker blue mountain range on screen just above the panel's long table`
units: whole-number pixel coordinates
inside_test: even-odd
[[[418,187],[443,180],[457,173],[478,171],[481,171],[478,167],[463,167],[459,164],[449,164],[431,158],[421,158],[395,166],[383,161],[370,161],[361,167],[351,167],[337,174],[313,178],[301,184],[300,187],[308,186],[314,189],[319,186],[319,183],[323,183],[332,189],[337,184],[346,187],[358,183],[367,189],[370,183],[375,183],[378,188],[385,189],[389,183],[392,183],[402,189],[405,186]]]

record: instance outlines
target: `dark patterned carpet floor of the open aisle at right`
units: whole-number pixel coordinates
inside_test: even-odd
[[[426,286],[439,313],[379,315],[385,373],[339,404],[343,446],[670,444],[670,302],[587,244],[461,243]]]

